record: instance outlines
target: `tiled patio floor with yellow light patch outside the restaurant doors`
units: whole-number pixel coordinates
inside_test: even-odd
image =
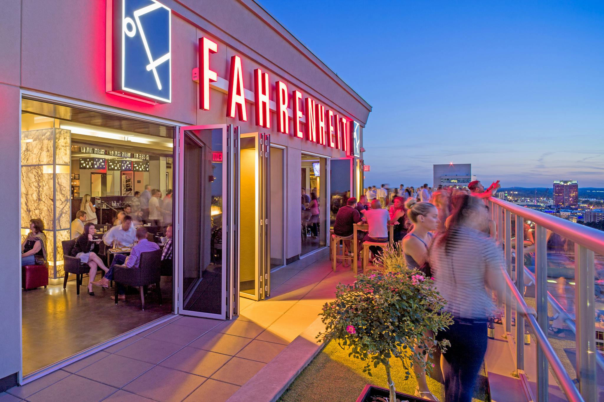
[[[175,316],[11,388],[0,402],[225,401],[316,320],[336,284],[354,280],[341,265],[334,273],[321,250],[272,273],[269,300],[240,299],[237,319]]]

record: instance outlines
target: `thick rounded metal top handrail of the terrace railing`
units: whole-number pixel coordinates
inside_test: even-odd
[[[604,255],[604,232],[601,230],[576,224],[557,216],[551,216],[545,212],[517,206],[503,199],[490,197],[489,201],[509,210],[515,215],[522,216],[524,219],[533,221],[546,229],[560,234],[562,237],[573,240],[575,243],[580,243],[591,251],[594,251],[594,253]]]

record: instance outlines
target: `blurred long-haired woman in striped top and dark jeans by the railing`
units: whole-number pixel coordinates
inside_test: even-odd
[[[487,209],[480,198],[459,194],[449,228],[434,239],[430,265],[434,286],[448,303],[454,323],[437,339],[451,346],[442,354],[445,401],[471,402],[487,348],[487,317],[493,310],[487,288],[503,294],[503,254],[484,233]]]

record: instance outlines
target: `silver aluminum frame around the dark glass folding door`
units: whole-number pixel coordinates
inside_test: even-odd
[[[204,313],[204,312],[196,312],[193,310],[185,310],[183,304],[184,297],[184,289],[182,286],[183,280],[183,264],[182,259],[184,256],[183,243],[181,239],[181,227],[184,227],[184,197],[182,194],[184,193],[184,174],[182,168],[184,166],[184,140],[185,131],[194,131],[194,130],[222,130],[222,154],[223,154],[223,172],[222,172],[222,198],[223,198],[223,213],[222,213],[222,243],[223,243],[223,253],[222,253],[222,306],[220,306],[220,314],[214,313]],[[233,163],[234,157],[233,155],[236,153],[233,149],[233,137],[232,134],[234,132],[233,125],[226,124],[213,124],[213,125],[194,125],[194,126],[182,126],[179,127],[178,130],[178,163],[175,164],[175,174],[178,180],[178,192],[176,192],[177,200],[176,205],[178,208],[176,209],[177,222],[178,227],[177,230],[174,231],[174,242],[177,247],[174,248],[176,254],[176,261],[178,263],[176,272],[178,275],[178,283],[177,283],[177,295],[178,301],[176,303],[176,312],[181,315],[190,315],[196,317],[203,318],[213,318],[213,319],[230,319],[233,316],[233,308],[238,308],[235,304],[233,304],[233,297],[230,297],[230,293],[233,289],[233,254],[230,253],[231,247],[233,247],[234,242],[234,230],[231,230],[230,223],[234,222],[234,204],[233,204],[233,178],[232,175],[234,173]],[[226,158],[224,157],[226,155]],[[226,160],[225,160],[226,159]],[[226,166],[226,169],[224,167]],[[237,215],[238,216],[238,215]],[[236,227],[236,225],[233,225]],[[225,247],[226,240],[226,247]],[[228,250],[225,253],[225,250]],[[233,308],[231,308],[233,307]]]

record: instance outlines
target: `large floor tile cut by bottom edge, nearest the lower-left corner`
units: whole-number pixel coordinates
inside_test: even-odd
[[[27,397],[30,402],[97,402],[117,391],[116,388],[71,374],[50,387]]]

